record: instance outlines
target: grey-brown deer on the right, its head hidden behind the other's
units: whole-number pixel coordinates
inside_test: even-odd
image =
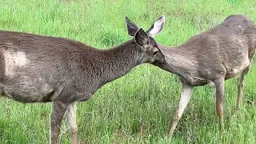
[[[164,25],[163,22],[156,22]],[[177,47],[158,45],[166,58],[156,64],[163,70],[177,74],[182,84],[181,99],[170,125],[171,138],[179,119],[190,100],[194,86],[212,84],[216,96],[216,112],[220,130],[223,124],[224,81],[238,78],[237,111],[242,102],[242,82],[250,70],[256,47],[256,26],[243,14],[230,15],[224,22],[197,34]]]

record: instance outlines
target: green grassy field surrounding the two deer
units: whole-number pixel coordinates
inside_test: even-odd
[[[71,38],[100,49],[130,36],[124,17],[147,30],[162,14],[166,27],[156,40],[178,46],[194,34],[242,13],[256,22],[254,0],[1,0],[0,29]],[[181,86],[174,74],[137,66],[78,103],[80,143],[256,143],[256,64],[246,76],[241,114],[235,113],[237,80],[226,81],[225,127],[218,132],[214,90],[197,87],[171,142],[166,133]],[[46,143],[50,103],[22,104],[0,99],[0,143]],[[70,143],[65,121],[59,143]]]

